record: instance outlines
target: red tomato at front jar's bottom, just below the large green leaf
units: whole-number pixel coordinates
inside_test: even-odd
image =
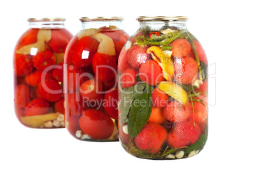
[[[162,145],[166,141],[167,132],[159,124],[148,123],[135,137],[134,142],[139,150],[144,150],[152,154],[160,152]]]

